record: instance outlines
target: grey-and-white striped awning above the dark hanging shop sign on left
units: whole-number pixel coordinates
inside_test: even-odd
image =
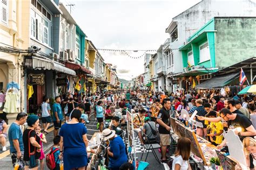
[[[32,57],[32,68],[39,70],[56,70],[57,72],[62,72],[69,75],[76,75],[76,72],[74,70],[66,68],[60,63],[46,58],[38,58],[36,56]]]

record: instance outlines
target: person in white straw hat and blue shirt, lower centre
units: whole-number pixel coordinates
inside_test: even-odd
[[[104,129],[102,134],[105,141],[110,141],[109,147],[107,148],[109,168],[111,170],[118,170],[121,165],[127,162],[124,141],[116,134],[116,131],[110,129]]]

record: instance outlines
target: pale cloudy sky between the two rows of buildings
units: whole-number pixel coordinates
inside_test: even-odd
[[[169,38],[165,29],[172,18],[200,2],[200,0],[63,1],[75,4],[71,9],[71,15],[96,48],[131,50],[158,49]],[[126,52],[134,58],[144,53],[144,51]],[[144,73],[144,56],[132,59],[120,52],[99,51],[99,53],[105,63],[117,66],[119,78],[131,80],[132,77]]]

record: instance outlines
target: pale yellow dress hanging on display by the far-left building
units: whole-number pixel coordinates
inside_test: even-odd
[[[5,104],[3,111],[6,113],[17,113],[19,108],[18,89],[9,89],[5,96]]]

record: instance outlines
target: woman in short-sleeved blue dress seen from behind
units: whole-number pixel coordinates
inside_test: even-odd
[[[64,169],[67,170],[86,169],[87,166],[87,130],[78,122],[81,115],[80,110],[73,110],[71,121],[64,124],[59,131],[60,153],[63,152]]]

